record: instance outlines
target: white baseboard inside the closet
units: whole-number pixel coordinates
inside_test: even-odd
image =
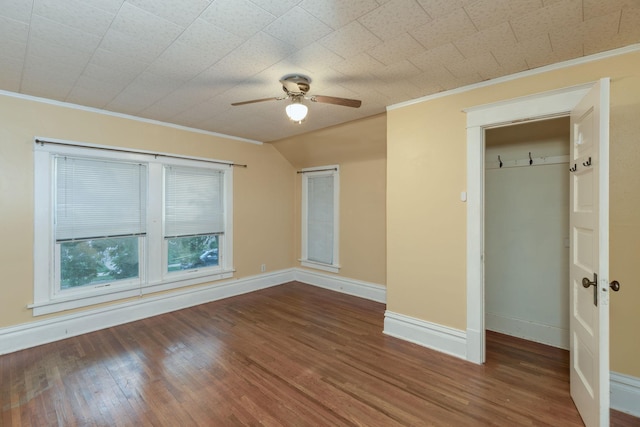
[[[569,330],[567,329],[493,313],[485,314],[485,328],[489,331],[569,350]]]

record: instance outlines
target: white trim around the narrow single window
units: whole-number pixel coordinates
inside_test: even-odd
[[[302,221],[301,221],[301,257],[298,260],[303,267],[340,272],[340,166],[329,165],[302,169]],[[333,264],[325,264],[308,259],[308,180],[310,177],[333,177]]]

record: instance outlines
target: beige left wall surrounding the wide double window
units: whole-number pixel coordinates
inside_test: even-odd
[[[256,145],[0,95],[0,327],[41,319],[33,302],[33,138],[84,141],[247,164],[234,169],[234,277],[294,266],[294,169]]]

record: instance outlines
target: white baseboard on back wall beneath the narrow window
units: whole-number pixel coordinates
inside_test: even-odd
[[[387,288],[375,283],[363,282],[361,280],[349,279],[303,268],[295,268],[294,277],[295,280],[306,283],[307,285],[318,286],[371,301],[387,302]]]

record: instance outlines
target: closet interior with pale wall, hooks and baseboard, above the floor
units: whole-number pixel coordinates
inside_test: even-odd
[[[485,327],[569,348],[569,119],[485,132]]]

